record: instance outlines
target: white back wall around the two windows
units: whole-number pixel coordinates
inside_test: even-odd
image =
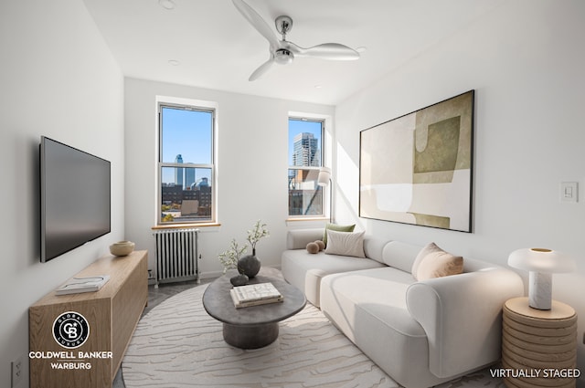
[[[199,236],[202,277],[217,276],[218,253],[256,220],[271,236],[256,247],[268,266],[280,266],[288,209],[288,114],[291,111],[333,116],[330,106],[266,99],[218,90],[125,79],[126,238],[148,249],[155,267],[156,96],[212,101],[218,106],[218,227]]]

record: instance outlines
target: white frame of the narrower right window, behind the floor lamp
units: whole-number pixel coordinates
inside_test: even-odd
[[[319,166],[295,166],[293,164],[288,164],[288,168],[287,168],[287,185],[288,185],[288,189],[287,189],[287,196],[289,198],[289,202],[288,202],[288,209],[287,209],[287,215],[288,215],[288,219],[289,220],[307,220],[307,219],[323,219],[326,218],[328,215],[326,215],[325,210],[326,210],[326,206],[327,206],[327,195],[326,195],[326,190],[331,190],[331,187],[329,186],[317,186],[321,188],[321,214],[308,214],[308,215],[292,215],[291,214],[291,203],[290,203],[290,197],[291,197],[291,186],[290,186],[290,181],[289,181],[289,173],[291,172],[291,170],[313,170],[315,172],[319,172],[321,170],[321,168],[325,167],[325,160],[326,160],[326,144],[325,144],[325,125],[327,123],[327,119],[325,117],[316,117],[313,115],[304,115],[304,114],[289,114],[288,116],[288,131],[290,131],[290,121],[309,121],[309,122],[319,122],[321,123],[321,144],[320,144],[320,155],[319,155],[319,162],[320,165]],[[290,133],[289,133],[290,135]],[[288,137],[287,137],[288,138]],[[290,146],[291,144],[287,144],[287,146]],[[294,145],[293,145],[294,147]],[[288,147],[287,147],[288,148]],[[288,156],[287,156],[288,157]]]

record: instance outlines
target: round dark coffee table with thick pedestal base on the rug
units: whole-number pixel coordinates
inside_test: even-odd
[[[223,322],[223,339],[240,349],[258,349],[270,345],[278,338],[279,324],[306,304],[303,292],[288,284],[275,268],[262,267],[248,284],[272,283],[283,297],[282,302],[236,309],[229,295],[232,288],[229,278],[237,275],[229,271],[214,280],[203,294],[203,307],[207,314]]]

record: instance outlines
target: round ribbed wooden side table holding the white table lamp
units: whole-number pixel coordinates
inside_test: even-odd
[[[533,309],[527,298],[504,304],[502,365],[509,388],[575,387],[577,315],[552,301],[549,310]]]

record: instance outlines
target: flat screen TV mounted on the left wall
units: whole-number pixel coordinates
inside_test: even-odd
[[[40,261],[110,233],[111,163],[42,136]]]

